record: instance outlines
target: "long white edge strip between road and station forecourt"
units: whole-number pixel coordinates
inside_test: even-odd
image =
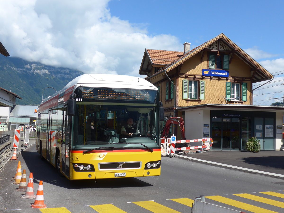
[[[233,168],[233,169],[237,169],[237,170],[243,170],[243,171],[247,171],[247,172],[253,172],[253,173],[268,175],[268,176],[277,177],[277,178],[284,178],[284,175],[281,175],[281,174],[276,174],[276,173],[271,173],[271,172],[263,172],[263,171],[259,171],[259,170],[248,169],[248,168],[243,168],[243,167],[239,167],[239,166],[232,166],[232,165],[217,163],[217,162],[208,161],[208,160],[201,160],[201,159],[191,158],[191,157],[182,156],[182,155],[178,155],[178,156],[181,157],[181,158],[187,158],[187,159],[190,159],[190,160],[196,160],[196,161],[214,164],[214,165],[218,165],[218,166],[225,166],[225,167]]]

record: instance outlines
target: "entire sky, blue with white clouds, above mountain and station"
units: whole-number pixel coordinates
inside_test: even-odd
[[[0,3],[0,41],[12,57],[85,73],[139,76],[146,48],[183,51],[184,42],[194,48],[224,33],[275,75],[274,83],[254,91],[254,104],[270,105],[278,101],[270,97],[283,97],[284,1]]]

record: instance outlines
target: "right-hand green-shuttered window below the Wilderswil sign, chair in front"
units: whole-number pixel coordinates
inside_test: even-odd
[[[247,83],[226,82],[226,98],[229,101],[247,101]]]

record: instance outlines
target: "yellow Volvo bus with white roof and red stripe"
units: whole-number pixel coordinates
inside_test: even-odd
[[[70,180],[159,176],[158,97],[139,77],[81,75],[39,105],[37,152]]]

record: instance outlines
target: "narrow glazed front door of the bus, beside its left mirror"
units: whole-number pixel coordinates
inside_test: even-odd
[[[62,126],[62,173],[69,177],[69,133],[70,133],[70,117],[66,113],[67,105],[63,110],[63,126]]]

